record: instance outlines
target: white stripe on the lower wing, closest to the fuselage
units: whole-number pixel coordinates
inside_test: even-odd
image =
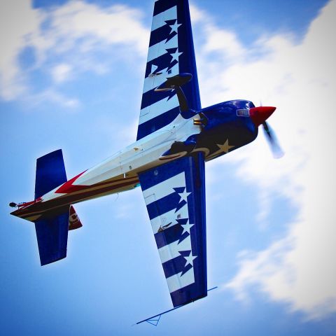
[[[144,199],[146,205],[151,204],[153,202],[153,196],[155,195],[156,200],[160,200],[161,198],[168,196],[172,193],[175,193],[173,188],[181,188],[186,187],[186,177],[184,172],[177,174],[166,181],[156,184],[155,186],[143,190],[142,193],[144,194]],[[149,200],[147,200],[149,197]]]

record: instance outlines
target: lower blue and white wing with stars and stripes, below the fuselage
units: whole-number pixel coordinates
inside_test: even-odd
[[[174,307],[207,296],[204,157],[139,174]]]

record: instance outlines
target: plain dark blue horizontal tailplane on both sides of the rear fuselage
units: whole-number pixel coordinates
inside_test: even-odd
[[[66,182],[62,150],[36,160],[35,199]],[[66,257],[69,230],[69,207],[35,221],[41,266]]]

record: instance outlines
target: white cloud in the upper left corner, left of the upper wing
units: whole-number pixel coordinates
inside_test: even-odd
[[[141,23],[141,12],[127,6],[100,8],[78,0],[43,10],[15,0],[1,1],[0,13],[0,97],[5,100],[31,99],[29,76],[34,69],[45,69],[59,84],[83,71],[106,73],[113,59],[132,61],[146,54],[148,29]],[[18,62],[27,46],[34,48],[35,56],[29,69]],[[106,61],[102,52],[111,46]],[[125,52],[130,47],[132,52]],[[51,84],[48,90],[55,92],[55,87]]]

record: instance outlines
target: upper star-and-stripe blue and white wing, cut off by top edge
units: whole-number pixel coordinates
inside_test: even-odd
[[[178,73],[193,75],[183,91],[190,109],[200,110],[188,0],[158,0],[154,6],[137,140],[172,123],[179,115],[175,92],[154,92],[155,87]]]

